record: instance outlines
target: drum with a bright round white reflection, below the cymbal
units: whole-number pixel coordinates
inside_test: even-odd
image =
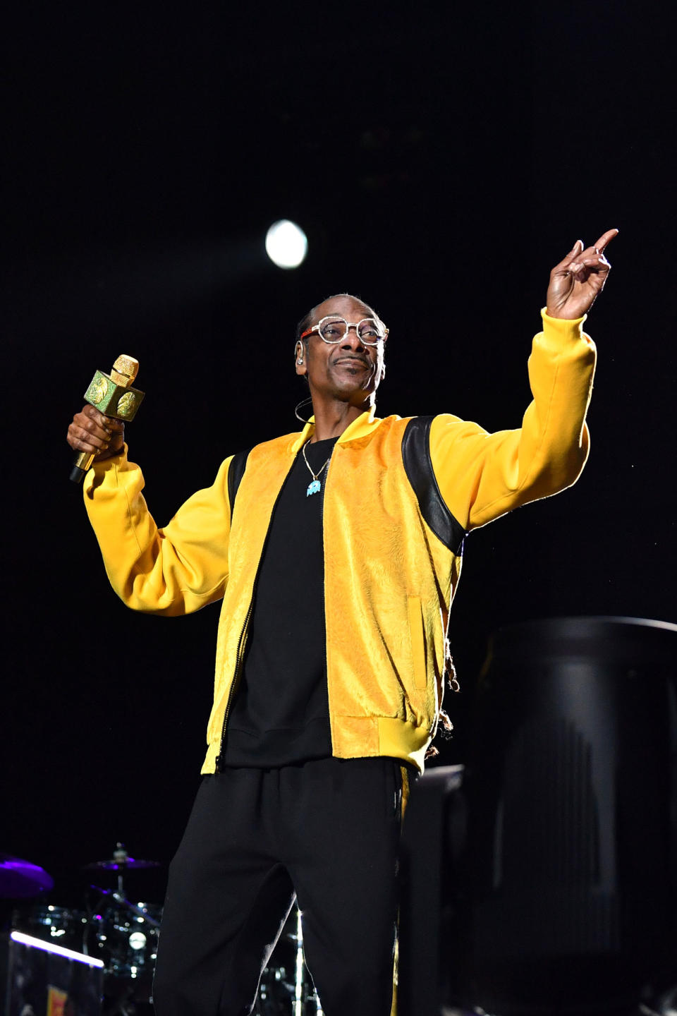
[[[149,1002],[162,907],[115,903],[89,918],[88,953],[104,960],[106,973],[134,987],[133,998]]]

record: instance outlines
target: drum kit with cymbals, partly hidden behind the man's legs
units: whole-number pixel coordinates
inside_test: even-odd
[[[128,872],[158,867],[158,862],[130,856],[124,844],[118,843],[112,858],[84,866],[88,873],[113,874],[115,887],[90,884],[84,907],[73,909],[27,903],[49,892],[54,880],[28,861],[0,853],[0,900],[14,904],[13,930],[103,960],[106,1016],[140,1016],[151,1011],[162,907],[129,899],[125,877]],[[300,913],[295,906],[261,975],[254,1013],[322,1016],[320,1000],[303,962]]]

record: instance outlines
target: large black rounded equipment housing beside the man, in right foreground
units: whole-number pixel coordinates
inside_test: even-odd
[[[436,981],[407,1016],[630,1013],[677,985],[676,693],[675,625],[562,618],[494,635],[462,786],[450,774],[441,797],[432,770],[405,818],[429,919],[404,969],[432,964]]]

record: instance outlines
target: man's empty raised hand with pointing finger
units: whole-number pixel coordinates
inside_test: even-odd
[[[546,298],[549,317],[579,318],[587,314],[604,289],[611,265],[604,251],[618,230],[607,230],[594,247],[577,240],[573,247],[550,272]]]

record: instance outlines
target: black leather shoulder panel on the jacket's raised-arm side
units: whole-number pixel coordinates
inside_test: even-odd
[[[402,461],[421,514],[445,547],[459,554],[465,530],[445,504],[430,459],[430,425],[432,417],[414,417],[407,424],[402,438]]]

